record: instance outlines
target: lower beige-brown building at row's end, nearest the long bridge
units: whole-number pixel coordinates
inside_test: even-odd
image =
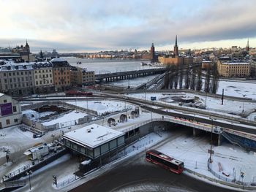
[[[94,85],[95,74],[94,72],[86,71],[86,69],[80,67],[72,67],[70,71],[70,80],[72,85]]]

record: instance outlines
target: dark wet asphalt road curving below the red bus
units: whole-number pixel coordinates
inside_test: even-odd
[[[174,174],[157,165],[148,163],[144,153],[135,156],[126,164],[116,166],[105,174],[90,180],[70,192],[123,192],[123,191],[208,191],[231,192],[217,185],[195,180],[186,174]]]

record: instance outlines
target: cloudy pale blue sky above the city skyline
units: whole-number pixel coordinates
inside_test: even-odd
[[[173,50],[256,47],[255,0],[0,0],[0,47]]]

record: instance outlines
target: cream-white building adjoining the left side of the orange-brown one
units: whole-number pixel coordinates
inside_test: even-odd
[[[48,61],[33,64],[34,86],[36,93],[48,93],[54,91],[53,64]]]

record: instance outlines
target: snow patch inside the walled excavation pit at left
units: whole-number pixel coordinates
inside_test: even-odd
[[[72,111],[67,114],[64,114],[60,118],[56,118],[56,119],[49,120],[49,121],[44,121],[44,122],[42,122],[42,125],[50,126],[50,125],[54,125],[56,123],[64,123],[67,121],[78,120],[79,118],[84,118],[86,115],[87,114],[85,112]]]

